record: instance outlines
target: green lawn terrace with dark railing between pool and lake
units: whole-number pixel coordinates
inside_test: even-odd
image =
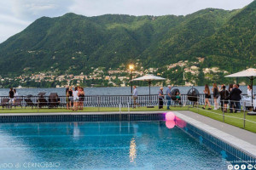
[[[66,109],[66,96],[60,96],[59,101],[54,101],[52,104],[49,102],[49,96],[45,96],[45,102],[38,102],[39,97],[30,97],[32,101],[31,104],[26,103],[27,96],[19,97],[21,102],[20,105],[5,105],[3,109],[0,110],[0,114],[32,114],[32,115],[42,115],[46,114],[77,114],[77,113],[111,113],[115,112],[120,115],[126,115],[131,113],[142,113],[142,112],[166,112],[166,101],[164,102],[164,109],[158,109],[158,95],[140,95],[138,96],[137,102],[141,105],[140,107],[133,108],[133,103],[131,95],[107,95],[107,96],[85,96],[83,103],[83,110],[72,111]],[[7,97],[2,96],[0,100],[7,99]],[[187,94],[181,95],[181,101],[183,105],[177,105],[175,101],[172,100],[171,111],[192,111],[201,116],[207,116],[219,122],[225,122],[227,124],[244,128],[250,132],[256,133],[256,116],[247,115],[245,108],[241,109],[239,113],[224,113],[221,110],[217,111],[206,111],[202,109],[204,102],[204,95],[200,95],[198,98],[199,105],[190,101]],[[212,100],[213,101],[213,100]],[[51,105],[51,106],[50,106]],[[148,105],[154,106],[153,108],[148,108]]]

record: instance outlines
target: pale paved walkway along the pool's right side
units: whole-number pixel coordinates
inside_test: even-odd
[[[221,139],[226,144],[230,144],[247,153],[249,156],[256,158],[256,133],[251,133],[247,130],[234,127],[224,122],[218,122],[192,111],[173,112],[185,122],[210,133],[212,136]]]

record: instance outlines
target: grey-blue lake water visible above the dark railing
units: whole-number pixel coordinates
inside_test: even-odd
[[[160,87],[151,87],[151,94],[158,94]],[[181,94],[187,94],[189,89],[192,87],[175,87],[178,88]],[[202,94],[204,87],[198,86],[194,87],[198,89],[198,91]],[[19,95],[38,95],[39,92],[45,92],[46,95],[50,93],[58,93],[60,96],[65,95],[66,88],[20,88],[17,89]],[[166,87],[164,87],[164,93],[166,92]],[[174,88],[173,88],[174,89]],[[212,87],[210,87],[212,89]],[[247,86],[240,87],[243,94],[247,94]],[[253,89],[256,89],[256,86],[253,86]],[[137,88],[138,94],[148,94],[149,90],[148,87],[138,87]],[[114,87],[114,88],[84,88],[85,95],[130,95],[131,88],[130,87]],[[212,93],[212,92],[211,92]],[[7,96],[9,95],[9,88],[0,88],[0,96]]]

